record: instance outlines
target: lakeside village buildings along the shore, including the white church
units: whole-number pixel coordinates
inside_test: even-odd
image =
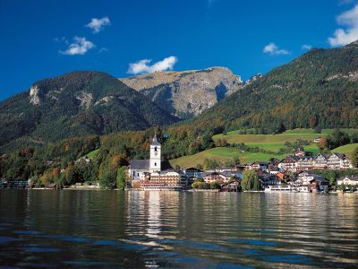
[[[245,170],[255,171],[260,190],[265,192],[328,192],[338,189],[357,191],[358,176],[337,178],[337,186],[330,186],[328,178],[314,170],[353,169],[343,153],[306,156],[298,150],[279,161],[258,161],[218,169],[172,169],[161,160],[161,145],[155,135],[150,144],[149,160],[132,160],[128,170],[130,188],[141,190],[215,190],[240,191]]]

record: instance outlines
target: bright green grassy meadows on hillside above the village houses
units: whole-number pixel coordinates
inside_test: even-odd
[[[249,146],[258,146],[261,149],[278,152],[281,148],[286,148],[285,144],[288,142],[295,142],[297,139],[303,139],[313,142],[313,139],[318,136],[328,135],[332,133],[333,129],[323,129],[321,134],[315,134],[312,129],[294,129],[288,130],[283,134],[238,134],[238,131],[229,132],[227,135],[217,134],[213,136],[213,140],[225,138],[228,143],[245,143]],[[342,129],[348,134],[357,132],[356,129]],[[345,149],[346,147],[346,149]],[[344,147],[339,147],[333,152],[344,152],[349,153],[353,152],[354,146],[345,145]],[[320,151],[316,143],[311,143],[304,147],[306,152],[312,152],[313,154],[318,154]],[[238,152],[234,148],[214,148],[204,152],[199,152],[194,155],[184,156],[171,160],[170,163],[172,166],[179,165],[182,168],[187,168],[191,166],[196,166],[197,164],[202,164],[203,161],[208,159],[215,159],[217,161],[225,162],[231,158],[239,157],[242,163],[252,162],[252,161],[268,161],[270,158],[283,159],[286,157],[286,154],[265,154],[260,152]]]

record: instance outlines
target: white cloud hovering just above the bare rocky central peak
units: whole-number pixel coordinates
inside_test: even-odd
[[[142,59],[138,62],[129,64],[128,73],[129,74],[145,74],[145,73],[154,73],[162,72],[167,70],[173,70],[174,65],[178,61],[176,56],[168,56],[161,61],[153,65],[149,65],[150,59]]]

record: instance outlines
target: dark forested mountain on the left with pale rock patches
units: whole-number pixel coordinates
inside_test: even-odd
[[[175,123],[178,118],[115,77],[72,72],[0,102],[0,147]],[[1,148],[0,148],[1,149]]]

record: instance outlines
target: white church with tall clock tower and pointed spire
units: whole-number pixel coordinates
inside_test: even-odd
[[[150,159],[132,160],[129,164],[128,172],[132,180],[143,180],[146,174],[161,170],[161,144],[158,143],[157,134],[154,134],[153,140],[150,143]]]

